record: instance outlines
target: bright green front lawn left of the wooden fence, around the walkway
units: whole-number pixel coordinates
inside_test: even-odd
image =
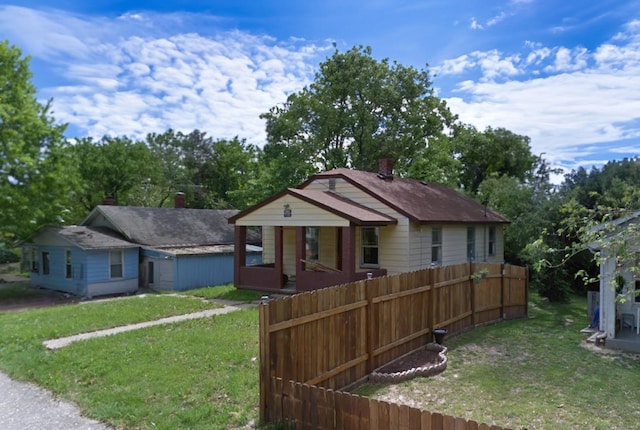
[[[245,292],[235,296],[228,287],[217,288],[195,292],[247,299]],[[257,309],[90,339],[56,351],[42,345],[50,338],[215,306],[189,297],[146,295],[3,312],[0,368],[75,401],[86,415],[117,428],[241,428],[257,420]]]

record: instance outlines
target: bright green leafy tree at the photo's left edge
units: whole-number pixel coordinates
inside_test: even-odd
[[[71,183],[64,124],[41,104],[29,57],[0,42],[0,242],[12,243],[66,213]]]

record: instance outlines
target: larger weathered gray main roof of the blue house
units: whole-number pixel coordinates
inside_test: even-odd
[[[234,229],[227,218],[234,209],[146,208],[96,206],[82,225],[102,225],[120,232],[131,242],[145,246],[202,246],[232,244]],[[104,220],[100,218],[104,217]],[[105,222],[106,220],[106,222]],[[249,237],[248,243],[259,243]]]

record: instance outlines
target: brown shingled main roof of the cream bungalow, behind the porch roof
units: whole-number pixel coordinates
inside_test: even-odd
[[[417,179],[382,179],[376,173],[346,168],[318,173],[316,179],[342,178],[419,223],[508,223],[505,217],[445,185]]]

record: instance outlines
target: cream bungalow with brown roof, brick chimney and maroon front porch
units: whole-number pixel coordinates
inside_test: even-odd
[[[318,173],[229,218],[237,288],[308,291],[464,261],[503,262],[508,220],[447,186],[378,172]],[[262,232],[262,264],[242,250]]]

